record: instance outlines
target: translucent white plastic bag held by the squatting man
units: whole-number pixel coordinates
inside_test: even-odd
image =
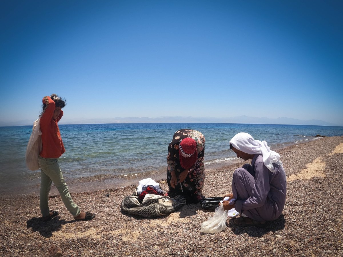
[[[203,222],[200,227],[201,233],[217,233],[227,228],[226,226],[227,211],[224,210],[223,205],[215,209],[213,217]]]

